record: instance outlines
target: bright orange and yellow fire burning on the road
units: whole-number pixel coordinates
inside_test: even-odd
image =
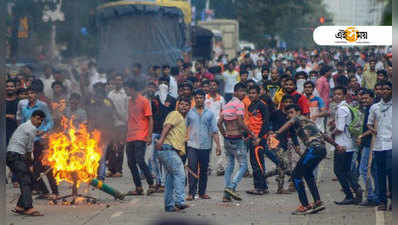
[[[73,118],[62,118],[62,130],[49,135],[48,150],[43,164],[53,168],[53,174],[59,184],[61,181],[76,183],[89,182],[97,176],[101,148],[101,134],[89,132],[85,124],[77,129]]]

